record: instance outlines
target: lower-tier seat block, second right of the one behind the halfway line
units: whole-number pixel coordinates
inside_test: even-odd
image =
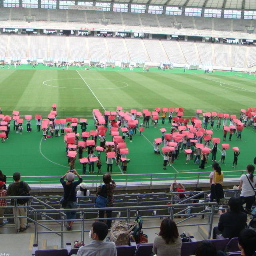
[[[109,49],[109,54],[112,59],[121,60],[129,59],[124,48],[125,39],[123,38],[107,38],[107,44]]]

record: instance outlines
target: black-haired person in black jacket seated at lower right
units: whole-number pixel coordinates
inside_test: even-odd
[[[238,237],[240,232],[246,227],[247,215],[240,211],[240,200],[237,197],[231,197],[228,200],[230,212],[219,211],[220,219],[218,227],[213,228],[212,238],[215,239],[217,234],[222,234],[224,238]]]

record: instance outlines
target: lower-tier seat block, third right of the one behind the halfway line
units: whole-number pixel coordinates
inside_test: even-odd
[[[143,40],[140,39],[130,39],[125,40],[131,60],[146,60],[149,61],[144,48],[142,46]]]

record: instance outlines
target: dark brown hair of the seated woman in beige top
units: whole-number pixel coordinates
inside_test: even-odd
[[[174,243],[179,236],[176,223],[169,219],[162,220],[160,232],[158,235],[162,236],[166,244],[169,244],[170,242]]]

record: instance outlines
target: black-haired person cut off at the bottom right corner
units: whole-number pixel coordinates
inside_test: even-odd
[[[253,256],[256,251],[256,232],[246,228],[238,236],[238,248],[241,256]]]

